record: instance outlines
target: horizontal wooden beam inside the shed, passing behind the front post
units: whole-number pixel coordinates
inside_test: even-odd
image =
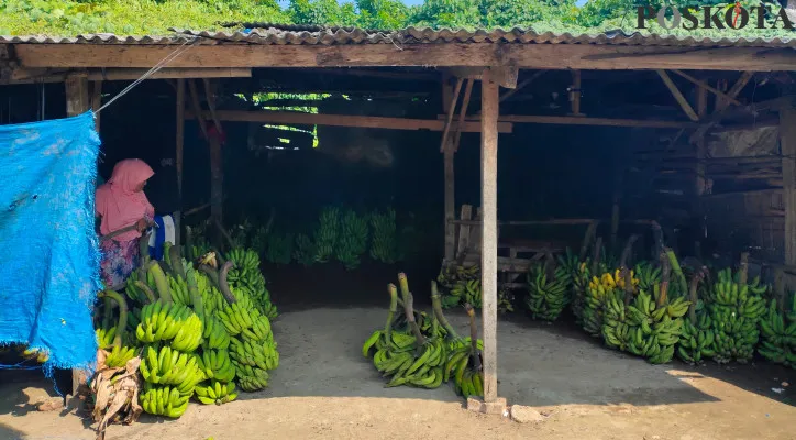
[[[334,127],[361,127],[368,129],[389,130],[431,130],[442,131],[445,122],[433,119],[409,119],[409,118],[385,118],[385,117],[362,117],[352,114],[312,114],[287,111],[247,111],[247,110],[218,110],[215,112],[221,121],[236,122],[263,122],[278,124],[299,125],[334,125]],[[196,113],[186,114],[187,119],[196,119]],[[203,112],[204,119],[211,119],[209,112]],[[461,128],[462,131],[477,133],[480,131],[478,122],[467,121]],[[498,123],[500,133],[511,133],[511,123]]]

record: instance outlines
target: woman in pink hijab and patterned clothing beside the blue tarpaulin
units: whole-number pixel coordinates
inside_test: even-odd
[[[102,282],[120,288],[139,263],[139,238],[152,223],[155,209],[144,195],[155,172],[140,158],[126,158],[113,167],[111,178],[97,188],[96,213],[100,217]],[[122,232],[120,232],[122,231]]]

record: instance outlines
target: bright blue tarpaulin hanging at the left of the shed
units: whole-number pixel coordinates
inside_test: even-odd
[[[45,370],[91,369],[99,280],[91,112],[0,125],[0,344],[49,354]]]

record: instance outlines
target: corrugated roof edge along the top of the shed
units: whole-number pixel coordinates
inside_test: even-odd
[[[250,28],[250,25],[252,28]],[[453,30],[430,28],[407,28],[400,31],[362,30],[355,28],[324,28],[312,25],[279,25],[269,23],[242,23],[245,31],[209,32],[173,30],[167,36],[121,36],[114,34],[88,34],[70,38],[48,36],[0,36],[0,43],[49,43],[49,44],[183,44],[199,38],[199,44],[289,44],[289,45],[334,45],[334,44],[439,44],[439,43],[513,43],[513,44],[611,44],[643,46],[753,46],[796,47],[796,38],[695,38],[674,35],[626,34],[621,31],[601,34],[555,34],[537,33],[530,29],[511,30]]]

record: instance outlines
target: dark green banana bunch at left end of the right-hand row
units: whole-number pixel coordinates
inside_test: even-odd
[[[534,264],[528,273],[526,304],[533,319],[554,321],[570,304],[571,275],[567,267],[554,267],[553,260]]]

